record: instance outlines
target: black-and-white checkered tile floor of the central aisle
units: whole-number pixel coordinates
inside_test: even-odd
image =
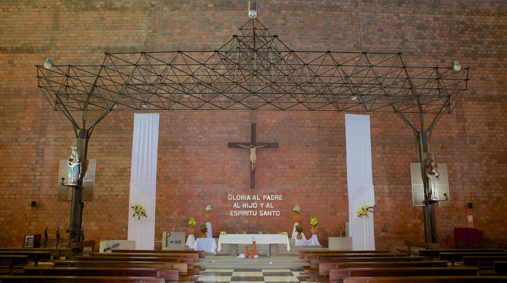
[[[303,268],[291,269],[212,269],[201,270],[202,275],[195,282],[306,282],[307,276],[301,276]]]

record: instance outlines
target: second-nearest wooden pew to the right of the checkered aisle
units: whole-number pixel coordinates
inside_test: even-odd
[[[345,277],[382,276],[478,276],[476,267],[370,267],[329,270],[330,282],[342,282]]]

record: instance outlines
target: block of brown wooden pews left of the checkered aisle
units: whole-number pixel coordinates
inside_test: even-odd
[[[24,257],[22,272],[1,275],[0,282],[188,282],[199,275],[200,258],[204,251],[113,250],[35,266]]]

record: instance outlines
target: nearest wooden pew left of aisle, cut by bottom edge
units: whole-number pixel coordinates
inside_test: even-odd
[[[2,283],[163,283],[162,277],[128,277],[128,276],[0,276]]]

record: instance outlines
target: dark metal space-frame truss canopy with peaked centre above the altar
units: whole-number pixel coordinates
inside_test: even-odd
[[[100,65],[37,69],[69,119],[113,109],[381,111],[414,128],[412,114],[434,124],[468,81],[468,68],[409,67],[400,53],[295,51],[257,19],[213,51],[106,53]]]

